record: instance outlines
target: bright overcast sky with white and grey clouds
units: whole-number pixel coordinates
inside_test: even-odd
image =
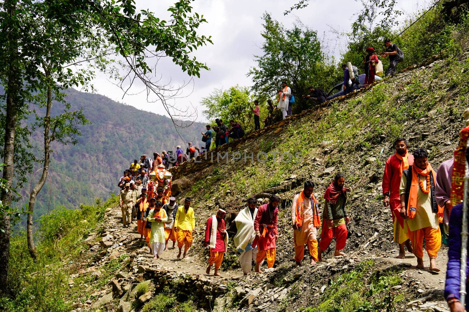
[[[166,11],[174,0],[136,0],[137,8],[149,9],[160,18],[167,18]],[[208,23],[198,30],[199,35],[212,36],[213,44],[199,48],[194,55],[197,60],[205,62],[210,71],[202,71],[200,79],[195,78],[183,90],[184,98],[174,100],[176,107],[185,109],[193,106],[197,110],[197,121],[206,121],[202,115],[204,106],[199,102],[202,97],[210,94],[215,88],[228,88],[239,84],[250,86],[251,80],[246,76],[251,66],[255,65],[253,55],[261,55],[260,46],[263,43],[260,35],[263,30],[262,15],[269,12],[272,18],[280,21],[285,27],[291,28],[299,19],[304,25],[318,32],[318,36],[327,40],[329,53],[339,56],[347,44],[347,38],[342,37],[336,42],[331,28],[340,32],[348,31],[354,20],[354,14],[361,8],[360,1],[354,0],[310,0],[308,7],[295,10],[284,16],[283,12],[295,4],[297,0],[196,0],[194,10],[203,14]],[[429,2],[423,0],[398,0],[398,7],[408,14],[418,9],[428,7]],[[325,45],[324,42],[321,44]],[[334,49],[335,47],[335,49]],[[190,80],[189,76],[175,65],[170,59],[162,59],[157,67],[156,77],[162,81],[178,85]],[[98,76],[94,86],[99,94],[103,94],[115,101],[124,102],[143,109],[166,115],[160,102],[148,103],[146,94],[126,95],[122,99],[122,90],[105,76]],[[142,88],[136,86],[131,92],[138,93]],[[192,108],[191,108],[192,109]]]

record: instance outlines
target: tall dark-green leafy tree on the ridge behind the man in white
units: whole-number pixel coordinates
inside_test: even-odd
[[[285,29],[268,13],[263,20],[264,55],[255,56],[257,66],[248,73],[254,82],[252,89],[257,94],[274,95],[281,82],[287,80],[295,95],[293,109],[300,112],[308,107],[301,98],[308,92],[307,87],[313,85],[325,90],[332,87],[340,74],[338,68],[333,60],[325,58],[315,30],[301,23]]]

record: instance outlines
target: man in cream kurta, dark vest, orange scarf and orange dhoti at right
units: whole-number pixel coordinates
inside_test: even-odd
[[[427,151],[417,148],[414,165],[402,172],[400,194],[401,217],[405,218],[404,229],[417,257],[417,268],[424,268],[425,239],[430,270],[439,272],[435,259],[441,246],[439,217],[443,215],[443,209],[435,198],[436,177],[437,174],[428,163]]]

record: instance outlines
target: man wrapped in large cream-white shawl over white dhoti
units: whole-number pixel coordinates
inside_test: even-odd
[[[252,248],[252,242],[256,237],[254,231],[254,218],[257,215],[257,200],[254,197],[248,198],[248,206],[241,210],[234,219],[237,231],[234,236],[234,245],[241,253],[239,263],[244,275],[248,275],[252,268],[252,261],[256,260],[257,247]],[[232,226],[233,228],[233,226]]]

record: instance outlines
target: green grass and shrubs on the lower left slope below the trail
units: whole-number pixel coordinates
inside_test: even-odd
[[[76,274],[80,263],[87,260],[84,250],[88,246],[83,239],[90,231],[98,232],[107,208],[118,203],[113,196],[106,203],[96,206],[82,205],[80,209],[59,208],[40,219],[37,249],[39,257],[33,261],[26,246],[26,233],[12,233],[8,293],[0,298],[0,306],[7,312],[70,311],[70,298],[79,295],[74,287],[68,287],[67,279]],[[127,265],[128,255],[110,261],[105,274]],[[115,273],[115,272],[113,272]],[[103,280],[103,285],[107,283]]]

